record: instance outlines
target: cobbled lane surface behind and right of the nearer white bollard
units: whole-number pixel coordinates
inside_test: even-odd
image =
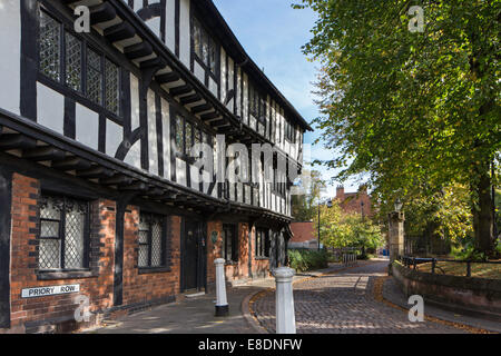
[[[386,276],[387,261],[337,271],[294,284],[296,327],[299,334],[455,334],[450,325],[411,323],[407,313],[374,298],[373,287]],[[252,303],[253,315],[275,332],[275,293]]]

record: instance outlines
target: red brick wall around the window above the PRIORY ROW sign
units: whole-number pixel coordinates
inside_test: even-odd
[[[79,284],[80,293],[89,297],[90,312],[109,308],[112,303],[112,266],[115,241],[115,204],[99,200],[91,204],[94,224],[91,234],[99,240],[92,246],[100,254],[99,277],[87,279],[38,280],[37,240],[40,187],[38,180],[14,174],[12,177],[12,237],[11,237],[11,327],[23,329],[27,322],[72,319],[78,305],[76,294],[21,298],[23,288]],[[96,221],[96,219],[98,221]]]

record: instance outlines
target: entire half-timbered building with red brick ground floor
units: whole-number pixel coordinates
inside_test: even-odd
[[[278,166],[301,170],[311,128],[212,0],[2,0],[0,29],[0,333],[75,329],[86,298],[88,325],[208,290],[215,258],[235,283],[286,263]],[[273,159],[222,181],[195,144],[216,167],[232,144]]]

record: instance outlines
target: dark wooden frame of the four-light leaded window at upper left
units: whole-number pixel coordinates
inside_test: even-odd
[[[42,16],[49,17],[59,28],[59,79],[56,80],[50,76],[47,76],[41,69],[41,57],[40,57],[40,19]],[[122,105],[122,71],[124,68],[118,65],[118,61],[106,55],[106,50],[101,49],[100,46],[96,44],[96,41],[90,40],[84,33],[76,33],[72,29],[72,22],[65,19],[63,16],[58,13],[57,10],[52,10],[51,7],[43,4],[38,10],[38,34],[37,34],[37,80],[42,85],[49,87],[52,90],[60,92],[66,97],[70,97],[78,103],[96,111],[97,113],[104,115],[112,121],[124,125],[124,105]],[[73,89],[71,83],[67,80],[67,34],[80,42],[80,90]],[[88,97],[88,53],[89,50],[96,52],[100,59],[100,79],[101,79],[101,92],[100,102],[96,102]],[[117,112],[111,111],[107,108],[107,78],[106,78],[106,61],[109,61],[118,69],[117,78]]]

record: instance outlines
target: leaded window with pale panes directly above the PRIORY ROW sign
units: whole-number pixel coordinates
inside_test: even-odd
[[[89,205],[66,197],[41,198],[39,269],[88,266]]]

